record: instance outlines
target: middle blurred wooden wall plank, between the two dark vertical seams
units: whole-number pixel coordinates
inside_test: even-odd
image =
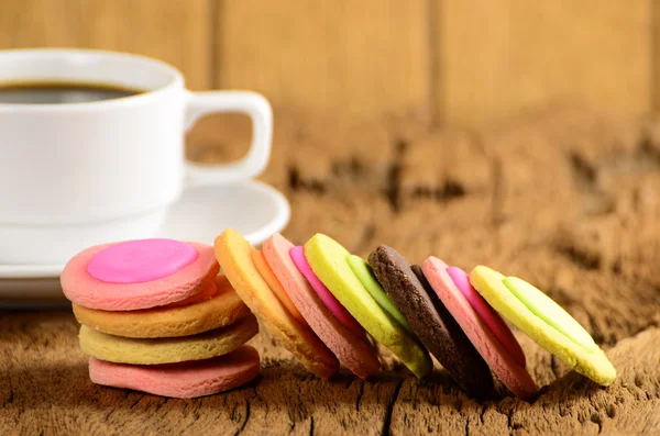
[[[354,118],[427,108],[426,1],[220,1],[217,83]]]

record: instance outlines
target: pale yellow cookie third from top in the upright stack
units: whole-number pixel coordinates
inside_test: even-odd
[[[253,315],[227,327],[186,337],[134,339],[95,332],[80,326],[80,349],[88,356],[116,364],[158,365],[202,360],[222,356],[250,340],[258,332]]]

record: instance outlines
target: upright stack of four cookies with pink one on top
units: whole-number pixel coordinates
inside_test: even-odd
[[[244,344],[258,325],[219,269],[212,247],[173,239],[100,245],[69,260],[62,288],[82,324],[91,381],[196,398],[254,379],[258,354]]]

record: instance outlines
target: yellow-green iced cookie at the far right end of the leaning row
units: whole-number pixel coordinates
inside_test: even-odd
[[[584,335],[588,334],[582,326],[538,289],[520,279],[506,280],[499,272],[484,266],[472,270],[470,282],[501,315],[575,371],[602,385],[608,385],[616,378],[616,369],[603,350],[593,339],[585,340]],[[506,282],[515,291],[509,290]],[[520,282],[525,286],[520,286]],[[548,300],[552,304],[548,304]],[[566,323],[566,317],[572,321]]]

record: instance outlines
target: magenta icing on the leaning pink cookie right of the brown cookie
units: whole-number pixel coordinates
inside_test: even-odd
[[[483,322],[491,328],[491,332],[493,332],[497,340],[499,340],[507,351],[514,356],[518,365],[525,368],[527,365],[525,361],[525,353],[522,353],[522,348],[520,348],[520,344],[518,344],[516,336],[514,336],[502,316],[499,316],[499,314],[491,308],[491,304],[488,304],[472,287],[470,283],[470,276],[458,267],[447,268],[447,273],[451,277],[459,291],[468,299],[472,309],[476,311]]]

